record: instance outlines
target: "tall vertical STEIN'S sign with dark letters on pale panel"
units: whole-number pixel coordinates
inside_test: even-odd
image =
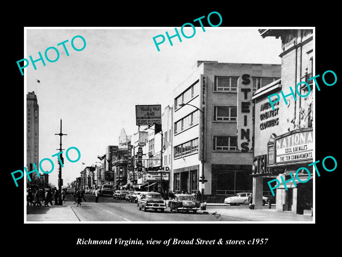
[[[253,79],[244,74],[237,81],[237,147],[241,152],[252,148],[253,131]]]

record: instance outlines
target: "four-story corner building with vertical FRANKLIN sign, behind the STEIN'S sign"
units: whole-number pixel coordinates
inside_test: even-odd
[[[280,78],[280,65],[197,61],[190,76],[174,89],[173,190],[201,190],[204,163],[206,198],[222,200],[252,191],[253,153],[237,146],[237,83],[243,74],[252,76],[256,91]]]

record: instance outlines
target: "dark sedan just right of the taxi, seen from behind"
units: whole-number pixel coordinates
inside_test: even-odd
[[[200,208],[199,202],[197,202],[193,195],[176,194],[173,199],[170,200],[170,211],[175,210],[176,213],[180,211],[193,211],[197,212]]]

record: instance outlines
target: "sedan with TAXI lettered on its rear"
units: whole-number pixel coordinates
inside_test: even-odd
[[[155,212],[157,212],[159,209],[161,212],[164,212],[164,210],[167,208],[166,201],[161,198],[161,194],[159,193],[142,192],[139,196],[139,210],[143,209],[146,211],[147,209],[154,209]]]

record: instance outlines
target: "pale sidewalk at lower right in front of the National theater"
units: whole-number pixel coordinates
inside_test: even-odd
[[[208,205],[208,204],[207,204]],[[290,211],[277,212],[275,209],[210,209],[197,212],[211,214],[217,212],[222,216],[234,217],[241,221],[312,221],[311,210],[304,210],[304,215],[293,214]]]

